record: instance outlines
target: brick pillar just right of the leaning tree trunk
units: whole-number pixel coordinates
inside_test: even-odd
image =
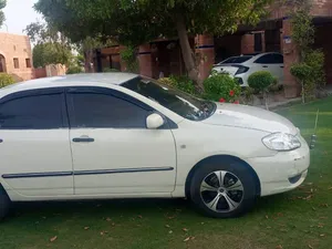
[[[198,65],[199,79],[205,80],[209,76],[215,63],[215,40],[214,35],[198,34],[195,38],[196,54],[200,61]]]

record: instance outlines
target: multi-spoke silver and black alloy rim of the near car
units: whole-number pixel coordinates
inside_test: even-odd
[[[212,172],[200,184],[200,197],[212,211],[229,212],[237,209],[243,195],[241,180],[227,170]]]

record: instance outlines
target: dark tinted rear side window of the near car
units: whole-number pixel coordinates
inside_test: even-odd
[[[23,96],[0,104],[0,129],[49,129],[64,125],[62,94]]]

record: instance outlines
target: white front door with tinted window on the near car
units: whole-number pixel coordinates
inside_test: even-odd
[[[174,137],[146,128],[149,106],[103,87],[71,89],[68,102],[76,195],[174,190]]]

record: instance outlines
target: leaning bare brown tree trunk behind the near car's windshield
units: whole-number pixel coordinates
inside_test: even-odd
[[[203,91],[203,81],[198,76],[198,70],[195,61],[195,54],[190,48],[189,39],[188,39],[188,32],[185,24],[185,19],[181,13],[177,13],[175,15],[176,18],[176,30],[179,38],[179,43],[181,48],[181,54],[185,62],[186,70],[188,72],[188,76],[191,81],[194,81],[194,84],[196,89],[201,92]]]

